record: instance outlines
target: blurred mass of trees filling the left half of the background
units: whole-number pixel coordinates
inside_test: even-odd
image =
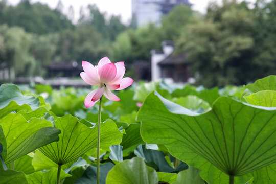
[[[120,16],[108,18],[95,5],[83,9],[89,14],[74,25],[73,8],[66,15],[62,7],[61,2],[52,10],[29,0],[16,6],[0,1],[0,67],[14,69],[15,77],[44,77],[53,62],[96,62],[109,55],[109,45],[126,29]]]

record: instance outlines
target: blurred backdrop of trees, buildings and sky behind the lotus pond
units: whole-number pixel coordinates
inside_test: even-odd
[[[81,61],[205,87],[276,74],[276,0],[0,1],[0,84],[87,86]]]

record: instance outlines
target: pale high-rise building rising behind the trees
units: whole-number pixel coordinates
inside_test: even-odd
[[[138,27],[150,22],[159,25],[162,15],[176,5],[191,6],[189,0],[132,0],[132,21]]]

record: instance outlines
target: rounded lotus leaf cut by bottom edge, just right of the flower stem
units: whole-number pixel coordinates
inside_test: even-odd
[[[107,174],[106,184],[157,184],[156,171],[143,158],[133,157],[116,164]]]

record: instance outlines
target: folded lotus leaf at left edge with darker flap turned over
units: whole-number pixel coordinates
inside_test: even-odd
[[[60,130],[44,118],[31,118],[27,121],[21,114],[10,113],[0,119],[7,142],[8,164],[35,149],[59,140]]]

